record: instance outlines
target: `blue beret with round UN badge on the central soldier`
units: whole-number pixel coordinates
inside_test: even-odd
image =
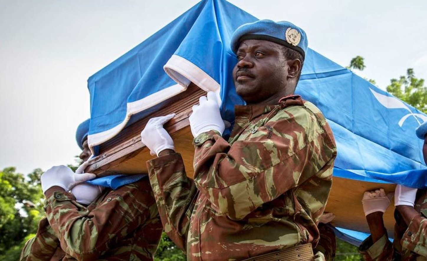
[[[236,53],[240,43],[248,39],[281,44],[299,52],[303,58],[307,52],[308,41],[304,30],[286,21],[258,20],[241,25],[231,37],[231,50]]]

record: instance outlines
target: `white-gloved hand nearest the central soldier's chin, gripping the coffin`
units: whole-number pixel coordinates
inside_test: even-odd
[[[199,98],[199,105],[193,106],[190,115],[190,128],[193,137],[200,133],[216,130],[222,134],[225,126],[219,113],[219,105],[214,92],[208,92],[208,98]]]

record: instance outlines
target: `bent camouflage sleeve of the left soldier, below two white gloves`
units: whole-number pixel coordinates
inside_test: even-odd
[[[92,211],[77,203],[70,192],[48,195],[47,219],[62,250],[77,260],[96,260],[157,213],[154,202],[145,202],[150,191],[140,188],[143,180],[108,192]]]

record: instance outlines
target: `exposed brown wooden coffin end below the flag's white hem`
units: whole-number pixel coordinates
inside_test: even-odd
[[[116,173],[139,174],[147,172],[145,162],[152,159],[153,156],[150,155],[149,149],[141,142],[140,132],[150,118],[171,113],[175,113],[176,116],[167,122],[164,127],[174,139],[176,151],[179,152],[182,149],[187,152],[189,145],[193,149],[191,145],[193,136],[191,132],[187,135],[189,129],[188,117],[191,114],[191,107],[199,102],[200,96],[205,94],[205,91],[191,83],[186,91],[168,99],[161,109],[136,121],[111,140],[101,144],[99,155],[91,161],[85,171],[97,174],[99,177]],[[187,130],[179,132],[186,127]],[[183,144],[181,145],[181,143]],[[194,155],[194,152],[192,155]],[[188,157],[185,156],[185,158]],[[193,160],[191,159],[189,166],[193,166],[192,162]]]

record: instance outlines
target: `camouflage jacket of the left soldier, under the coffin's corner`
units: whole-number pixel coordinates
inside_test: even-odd
[[[47,218],[20,260],[153,260],[162,225],[147,178],[104,192],[87,208],[70,192],[45,201]],[[62,249],[61,249],[62,246]]]

